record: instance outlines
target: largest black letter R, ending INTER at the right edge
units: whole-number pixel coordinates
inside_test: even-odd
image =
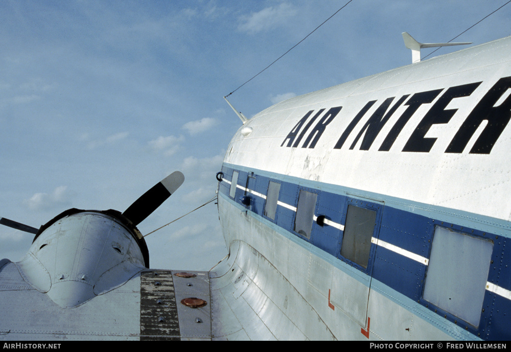
[[[495,83],[463,122],[447,147],[446,153],[462,153],[481,122],[487,120],[488,123],[470,150],[470,154],[490,154],[511,119],[511,96],[499,106],[495,106],[509,88],[511,77],[501,78]]]

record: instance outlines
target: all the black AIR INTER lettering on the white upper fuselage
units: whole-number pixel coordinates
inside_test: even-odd
[[[363,136],[360,142],[360,150],[369,150],[383,127],[392,118],[392,115],[396,113],[401,106],[406,106],[401,116],[397,118],[397,121],[390,128],[390,131],[387,133],[378,149],[379,151],[389,151],[417,110],[424,104],[431,104],[439,97],[436,102],[429,107],[429,110],[426,111],[421,121],[411,132],[402,150],[403,152],[415,153],[430,152],[437,138],[426,137],[428,131],[433,125],[448,124],[458,109],[447,109],[447,106],[456,98],[471,96],[481,83],[482,82],[475,82],[449,87],[447,89],[441,88],[422,91],[413,93],[411,97],[410,94],[407,94],[403,95],[393,105],[392,102],[396,97],[385,99],[358,131],[350,149],[353,150]],[[511,121],[511,94],[505,95],[508,90],[511,90],[511,77],[499,79],[469,113],[466,120],[452,138],[445,152],[462,153],[476,131],[482,126],[481,123],[487,121],[486,126],[480,128],[482,132],[477,136],[477,140],[470,149],[470,154],[490,154],[497,139],[500,137],[509,121]],[[442,91],[444,91],[444,93],[440,95]],[[408,101],[406,101],[407,99]],[[334,149],[342,148],[348,137],[354,132],[355,127],[376,102],[377,100],[371,100],[364,105],[344,129]],[[498,105],[496,105],[497,103]],[[307,135],[301,148],[314,148],[326,127],[334,120],[341,109],[341,106],[333,107],[319,118],[325,110],[320,109],[310,120],[309,118],[314,110],[309,111],[296,123],[282,142],[281,147],[287,142],[286,147],[297,148],[301,140]],[[309,122],[306,124],[307,120],[309,120]],[[319,121],[316,123],[317,120]],[[315,126],[312,127],[314,124]]]

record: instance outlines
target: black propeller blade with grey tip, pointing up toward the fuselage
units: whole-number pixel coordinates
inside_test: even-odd
[[[135,200],[123,213],[133,225],[140,224],[161,203],[173,194],[184,181],[184,175],[175,171],[160,182],[156,183],[149,191]]]

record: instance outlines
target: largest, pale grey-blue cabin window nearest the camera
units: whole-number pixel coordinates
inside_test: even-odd
[[[423,298],[479,325],[493,242],[436,227]]]

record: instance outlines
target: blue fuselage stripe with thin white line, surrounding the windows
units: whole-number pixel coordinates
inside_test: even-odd
[[[456,231],[468,232],[472,236],[481,238],[494,239],[494,254],[492,260],[496,264],[492,264],[488,281],[495,283],[504,289],[511,289],[511,268],[509,265],[498,263],[509,263],[510,255],[508,250],[504,250],[505,244],[509,241],[509,223],[489,217],[477,216],[466,212],[459,212],[449,208],[431,206],[428,204],[416,203],[387,197],[379,194],[363,192],[360,190],[348,189],[342,186],[325,184],[321,182],[313,182],[309,180],[299,179],[291,176],[274,174],[261,170],[247,169],[240,166],[234,166],[224,163],[222,172],[224,179],[231,180],[233,171],[239,172],[236,197],[234,200],[238,206],[241,204],[241,197],[247,193],[244,191],[247,176],[253,176],[249,190],[266,196],[268,183],[270,180],[281,183],[281,189],[278,200],[288,204],[290,207],[297,206],[298,194],[301,189],[314,191],[318,194],[316,208],[314,214],[316,216],[326,215],[331,221],[344,225],[346,217],[347,204],[349,202],[358,201],[367,204],[383,204],[384,208],[379,222],[379,240],[399,249],[412,253],[424,258],[429,258],[431,250],[431,241],[435,226],[450,227]],[[253,187],[253,188],[252,188]],[[225,198],[229,198],[230,185],[227,182],[219,183],[219,193]],[[251,195],[251,194],[250,194]],[[296,213],[286,206],[277,206],[275,219],[265,217],[264,205],[265,198],[261,196],[251,195],[252,203],[249,207],[250,214],[260,217],[261,221],[275,229],[277,232],[286,234],[287,237],[294,242],[307,246],[309,249],[318,249],[323,259],[329,259],[329,262],[335,263],[335,266],[346,271],[358,270],[356,275],[362,273],[369,274],[372,270],[373,280],[382,283],[382,287],[388,287],[391,291],[399,292],[415,302],[415,306],[425,307],[437,311],[438,314],[446,316],[451,323],[459,321],[459,318],[443,312],[435,308],[432,304],[428,304],[422,299],[424,289],[424,278],[427,270],[427,264],[420,263],[411,259],[401,252],[396,252],[378,246],[374,260],[370,262],[367,269],[359,267],[340,255],[340,245],[342,242],[342,231],[333,226],[321,227],[317,223],[313,223],[310,238],[300,236],[293,231]],[[246,207],[244,207],[246,209]],[[463,225],[463,226],[461,226]],[[491,234],[490,234],[491,233]],[[374,248],[373,244],[373,248]],[[328,253],[328,254],[327,254]],[[347,264],[347,265],[346,265]],[[350,268],[350,269],[347,269]],[[356,269],[358,268],[358,269]],[[353,272],[352,274],[355,274]],[[393,297],[395,292],[388,293],[387,296]],[[492,316],[493,303],[495,300],[501,303],[499,312],[511,312],[511,301],[504,299],[491,292],[485,292],[483,307],[487,309],[481,315],[479,326],[467,326],[475,336],[484,336],[487,339],[506,338],[507,335],[501,335],[511,323],[507,320],[499,319],[498,321]],[[419,303],[417,303],[419,302]],[[491,328],[489,322],[491,321]],[[504,323],[504,325],[502,325]],[[500,333],[498,333],[500,331]]]

